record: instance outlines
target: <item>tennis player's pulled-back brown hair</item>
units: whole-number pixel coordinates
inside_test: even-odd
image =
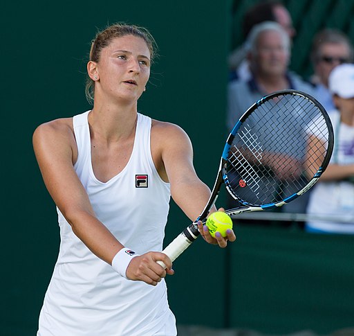
[[[109,46],[113,39],[126,35],[133,35],[144,39],[150,51],[151,62],[153,62],[157,54],[157,45],[149,30],[120,22],[111,24],[96,34],[95,38],[91,41],[89,60],[99,62],[102,49]],[[86,79],[85,94],[88,103],[92,104],[95,97],[95,82],[89,76]]]

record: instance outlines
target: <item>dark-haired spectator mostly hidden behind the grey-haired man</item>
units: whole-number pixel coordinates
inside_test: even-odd
[[[292,19],[288,10],[281,1],[262,1],[252,6],[243,17],[242,33],[246,39],[254,26],[264,21],[275,21],[280,24],[288,33],[290,39],[295,35],[295,28],[292,26]],[[250,79],[250,69],[246,59],[248,45],[244,43],[236,48],[229,56],[228,64],[232,71],[230,78]]]

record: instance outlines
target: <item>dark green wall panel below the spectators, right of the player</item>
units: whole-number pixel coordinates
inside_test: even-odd
[[[232,327],[353,335],[353,236],[246,225],[236,230],[239,240],[228,257]]]

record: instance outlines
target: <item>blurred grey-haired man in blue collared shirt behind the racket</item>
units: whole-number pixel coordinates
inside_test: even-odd
[[[257,100],[274,91],[297,89],[313,94],[313,88],[295,73],[288,72],[290,38],[276,22],[265,21],[252,28],[248,37],[251,78],[228,85],[227,127],[231,129]],[[285,112],[286,113],[286,112]],[[286,204],[283,211],[305,213],[307,195]]]

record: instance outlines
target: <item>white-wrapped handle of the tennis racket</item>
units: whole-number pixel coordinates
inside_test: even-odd
[[[193,231],[193,233],[191,231]],[[186,233],[189,238],[187,238]],[[185,231],[180,233],[172,242],[170,242],[169,245],[162,251],[162,253],[166,254],[171,259],[171,261],[174,262],[174,260],[176,260],[176,258],[178,258],[178,256],[180,256],[180,254],[182,254],[183,251],[185,251],[185,249],[187,249],[187,247],[189,247],[192,242],[194,242],[194,240],[196,240],[198,235],[198,229],[195,231],[191,225],[185,229]],[[166,269],[165,263],[162,263],[160,260],[157,261],[157,263]]]

